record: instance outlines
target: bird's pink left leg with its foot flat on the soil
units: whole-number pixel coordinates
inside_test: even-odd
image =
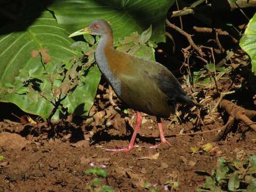
[[[132,139],[131,139],[128,147],[123,147],[123,148],[119,148],[119,149],[106,149],[106,150],[107,151],[113,151],[113,152],[119,152],[119,151],[127,152],[127,151],[132,150],[133,147],[134,147],[134,142],[135,142],[137,133],[138,133],[138,131],[140,129],[141,120],[142,120],[141,114],[140,114],[139,111],[137,111],[137,124],[136,124],[135,130],[133,131]]]

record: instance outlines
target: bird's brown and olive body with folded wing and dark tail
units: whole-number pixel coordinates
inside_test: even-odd
[[[106,51],[106,58],[111,73],[121,83],[118,97],[131,108],[169,117],[178,102],[194,104],[171,71],[160,63],[114,49]],[[114,82],[109,83],[115,89]]]

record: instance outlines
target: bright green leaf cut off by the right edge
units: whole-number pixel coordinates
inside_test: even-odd
[[[249,21],[239,45],[248,53],[252,60],[252,72],[256,75],[256,14]]]

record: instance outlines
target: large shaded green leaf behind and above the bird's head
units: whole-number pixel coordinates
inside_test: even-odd
[[[165,19],[174,0],[57,0],[49,9],[69,34],[87,26],[95,19],[110,22],[116,40],[141,33],[150,25],[151,39],[165,41]]]

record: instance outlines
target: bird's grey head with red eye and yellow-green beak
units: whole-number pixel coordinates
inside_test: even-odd
[[[68,37],[74,37],[83,34],[91,34],[91,35],[107,35],[111,33],[111,27],[109,23],[103,19],[95,20],[90,23],[88,27],[85,27],[81,30],[74,32],[73,34],[69,35]]]

